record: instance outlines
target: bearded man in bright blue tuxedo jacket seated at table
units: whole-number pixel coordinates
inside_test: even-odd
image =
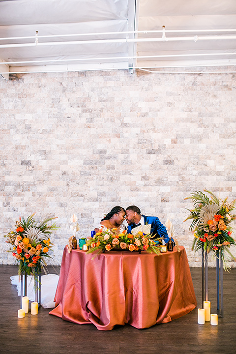
[[[152,234],[153,236],[155,235],[154,239],[158,237],[162,237],[165,243],[169,241],[170,237],[167,234],[166,228],[160,222],[158,217],[141,215],[140,208],[136,206],[127,207],[125,212],[126,212],[126,221],[129,225],[127,228],[128,234],[131,233],[132,229],[134,229],[139,225],[151,224],[150,234]]]

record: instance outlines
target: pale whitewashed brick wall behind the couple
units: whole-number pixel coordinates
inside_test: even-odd
[[[0,80],[0,123],[1,235],[19,215],[58,216],[51,264],[74,212],[88,236],[103,213],[135,204],[171,219],[201,266],[184,198],[205,188],[236,198],[233,74],[21,74]],[[1,237],[1,264],[14,263],[7,246]]]

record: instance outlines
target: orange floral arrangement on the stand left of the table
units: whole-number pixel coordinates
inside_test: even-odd
[[[48,226],[47,223],[55,218],[47,218],[38,223],[33,218],[20,217],[16,221],[15,230],[10,231],[4,237],[13,246],[12,255],[18,262],[20,274],[33,275],[34,279],[41,272],[41,267],[46,266],[45,258],[52,258],[48,251],[52,247],[50,235],[56,230],[56,224]]]

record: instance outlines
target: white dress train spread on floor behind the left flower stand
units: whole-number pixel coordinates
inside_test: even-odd
[[[18,296],[21,295],[21,282],[19,275],[13,275],[10,277],[11,284],[17,286]],[[41,305],[44,308],[55,307],[54,297],[56,294],[57,286],[59,281],[59,275],[57,274],[47,274],[41,276]],[[34,293],[34,281],[32,276],[27,277],[27,296],[30,301],[35,301]]]

